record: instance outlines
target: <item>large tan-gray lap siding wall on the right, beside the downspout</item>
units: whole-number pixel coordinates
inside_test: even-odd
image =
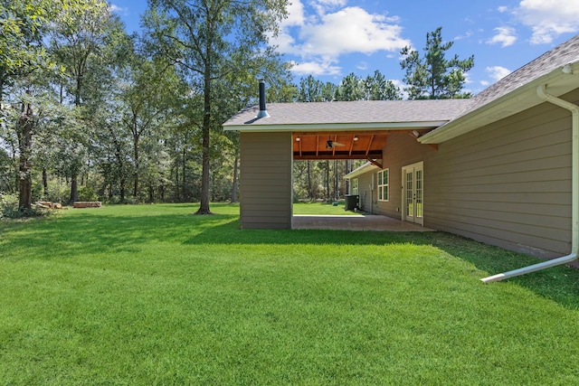
[[[569,253],[571,150],[571,113],[547,103],[442,143],[424,159],[424,226],[543,258]]]

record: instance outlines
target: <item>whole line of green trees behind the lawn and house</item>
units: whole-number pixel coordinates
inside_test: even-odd
[[[403,49],[400,89],[380,71],[337,84],[294,84],[268,44],[286,1],[150,0],[142,33],[128,34],[100,0],[0,5],[0,193],[75,202],[237,200],[239,139],[221,124],[256,103],[468,98],[473,58],[446,60],[441,28],[424,56]],[[405,94],[405,95],[404,95]],[[343,195],[352,162],[296,163],[299,198]],[[307,173],[306,173],[307,171]]]

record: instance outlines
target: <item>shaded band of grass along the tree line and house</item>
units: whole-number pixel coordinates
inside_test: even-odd
[[[191,212],[152,215],[100,215],[86,212],[45,221],[14,223],[0,228],[4,233],[0,239],[0,259],[11,256],[12,249],[23,248],[24,259],[63,258],[74,249],[90,253],[138,253],[147,243],[161,241],[188,245],[282,244],[288,245],[288,248],[303,244],[328,247],[346,244],[429,245],[456,259],[469,262],[481,271],[480,277],[540,261],[444,232],[240,230],[239,215],[195,216]],[[22,253],[18,256],[20,258],[15,259],[23,259]],[[563,306],[579,309],[577,269],[549,268],[509,281]],[[489,284],[495,285],[499,284]]]

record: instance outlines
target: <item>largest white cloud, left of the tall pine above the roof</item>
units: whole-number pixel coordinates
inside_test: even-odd
[[[271,39],[279,52],[302,59],[303,62],[292,69],[294,73],[305,68],[336,71],[339,68],[335,63],[341,55],[398,52],[411,45],[402,38],[403,29],[397,17],[369,14],[358,6],[344,7],[346,0],[317,0],[312,4],[313,8],[309,9],[318,14],[308,14],[300,0],[292,1],[289,17],[280,24],[279,36]],[[315,68],[313,63],[317,64]],[[333,73],[317,72],[318,75]]]

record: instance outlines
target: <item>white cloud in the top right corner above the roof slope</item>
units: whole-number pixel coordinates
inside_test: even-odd
[[[562,33],[579,31],[579,3],[576,0],[522,0],[514,14],[531,27],[534,44],[549,43]]]

